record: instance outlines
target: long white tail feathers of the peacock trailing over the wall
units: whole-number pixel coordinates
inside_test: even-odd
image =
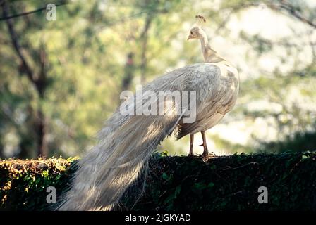
[[[114,210],[182,115],[174,104],[165,108],[164,115],[122,115],[117,110],[99,132],[97,146],[78,162],[71,189],[58,210]]]

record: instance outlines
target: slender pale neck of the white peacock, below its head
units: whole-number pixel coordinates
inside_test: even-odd
[[[202,30],[202,32],[200,32],[201,34],[201,47],[202,47],[202,53],[205,59],[205,62],[207,63],[219,63],[221,61],[226,61],[224,58],[222,58],[221,56],[219,56],[219,54],[217,53],[217,51],[215,51],[214,49],[211,48],[211,46],[209,46],[209,40],[207,38],[207,34]]]

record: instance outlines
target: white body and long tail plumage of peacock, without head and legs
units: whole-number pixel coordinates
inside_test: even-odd
[[[205,131],[233,108],[238,72],[225,60],[195,63],[150,82],[143,95],[146,90],[196,91],[195,122],[184,123],[183,115],[176,113],[176,103],[164,108],[164,115],[122,115],[116,110],[99,131],[97,146],[78,162],[71,190],[63,196],[59,210],[113,210],[140,170],[147,169],[150,155],[166,136],[174,131],[180,139]]]

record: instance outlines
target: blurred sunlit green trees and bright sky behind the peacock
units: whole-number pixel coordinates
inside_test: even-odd
[[[53,21],[46,18],[50,3]],[[212,48],[241,78],[236,107],[207,131],[209,150],[316,150],[315,0],[0,0],[0,6],[0,158],[89,150],[121,91],[203,61],[200,42],[186,41],[197,14],[207,20]],[[195,153],[202,153],[200,143],[197,134]],[[159,146],[171,155],[188,148],[188,137]]]

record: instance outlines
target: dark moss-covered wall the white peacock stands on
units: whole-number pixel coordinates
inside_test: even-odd
[[[61,195],[75,162],[0,162],[0,210],[49,209],[46,188],[54,186]],[[316,210],[315,178],[316,153],[241,154],[206,162],[154,154],[149,173],[129,188],[117,210]],[[267,187],[268,203],[258,203],[260,186]]]

